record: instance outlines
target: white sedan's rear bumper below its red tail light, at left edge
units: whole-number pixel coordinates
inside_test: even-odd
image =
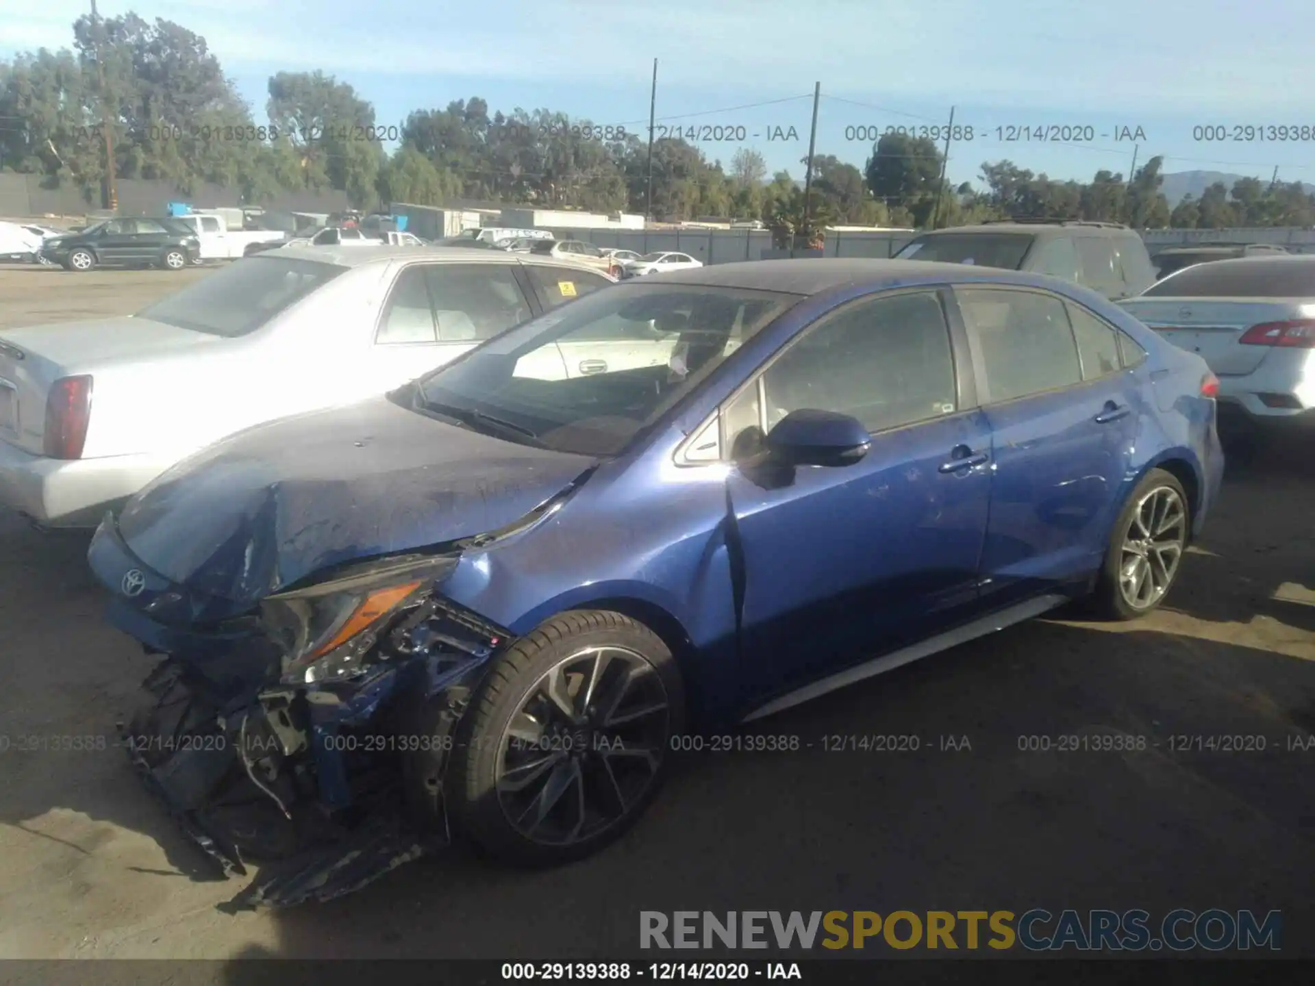
[[[150,455],[47,459],[0,442],[0,505],[47,527],[95,527],[170,465]]]

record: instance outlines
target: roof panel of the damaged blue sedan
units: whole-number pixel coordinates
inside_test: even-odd
[[[675,251],[671,251],[675,252]],[[872,288],[899,284],[963,283],[989,280],[997,284],[1038,287],[1053,277],[1036,273],[977,267],[974,264],[931,260],[878,260],[872,258],[800,258],[794,260],[739,260],[668,271],[659,280],[631,280],[626,284],[690,284],[707,288],[744,288],[786,294],[821,294],[846,285]]]

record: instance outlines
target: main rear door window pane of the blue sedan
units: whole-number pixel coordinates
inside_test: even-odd
[[[981,343],[992,402],[1082,381],[1064,302],[1053,294],[955,288],[969,331]]]

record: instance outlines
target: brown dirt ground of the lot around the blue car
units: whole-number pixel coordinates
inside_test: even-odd
[[[0,270],[0,318],[132,312],[195,276]],[[640,910],[1031,907],[1279,908],[1283,954],[1311,954],[1315,748],[1290,744],[1315,728],[1312,451],[1232,471],[1170,605],[1144,622],[1034,622],[759,723],[814,748],[692,755],[636,831],[575,866],[454,855],[277,915],[216,910],[237,886],[203,878],[121,751],[16,749],[113,744],[149,664],[103,624],[85,538],[0,517],[0,956],[617,956],[638,948]],[[823,753],[835,734],[923,744]],[[1109,734],[1147,749],[1019,739]],[[1266,748],[1185,752],[1172,736]]]

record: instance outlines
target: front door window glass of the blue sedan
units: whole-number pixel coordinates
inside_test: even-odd
[[[803,408],[857,418],[876,434],[957,410],[949,326],[935,292],[853,302],[807,330],[726,406],[723,448],[736,454]]]

